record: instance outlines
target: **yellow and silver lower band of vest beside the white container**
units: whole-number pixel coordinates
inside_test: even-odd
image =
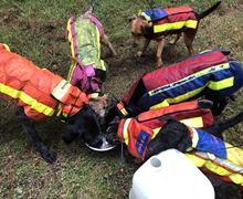
[[[205,167],[210,171],[229,177],[234,184],[243,186],[243,168],[221,158],[215,158],[215,164],[210,159],[207,153],[186,154],[186,156],[197,166]],[[225,167],[225,168],[223,168]],[[229,168],[229,169],[226,169]],[[231,170],[231,171],[230,171]]]

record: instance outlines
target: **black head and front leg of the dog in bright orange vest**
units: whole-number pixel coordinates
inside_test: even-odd
[[[24,132],[30,136],[42,158],[50,164],[55,161],[56,156],[42,142],[35,129],[35,122],[24,114],[23,107],[19,108],[17,116]],[[84,139],[93,147],[99,147],[103,143],[102,127],[98,123],[98,116],[89,105],[84,105],[77,114],[66,121],[63,140],[66,144],[71,144],[73,140],[78,138]]]

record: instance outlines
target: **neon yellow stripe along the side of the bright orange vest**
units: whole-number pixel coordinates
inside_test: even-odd
[[[46,116],[52,116],[55,113],[55,109],[53,109],[52,107],[49,107],[40,102],[38,102],[35,98],[32,98],[30,95],[25,94],[22,91],[18,91],[14,90],[8,85],[4,85],[2,83],[0,83],[0,92],[2,94],[6,94],[8,96],[11,96],[12,98],[15,100],[21,100],[23,101],[25,104],[30,105],[32,109],[35,109],[39,113],[42,113]]]

